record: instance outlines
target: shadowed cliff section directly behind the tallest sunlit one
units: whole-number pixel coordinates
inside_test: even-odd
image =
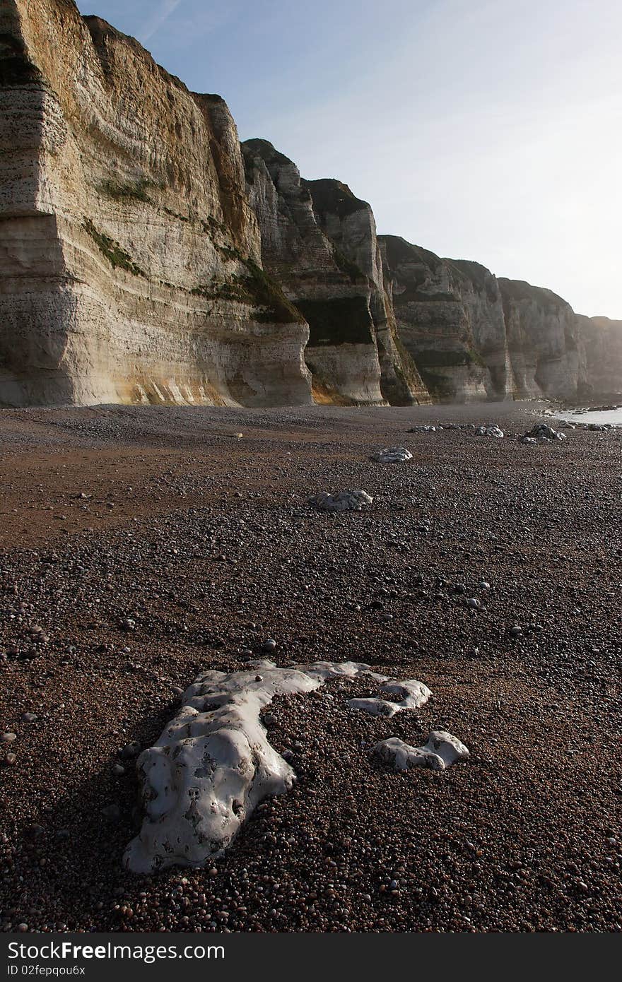
[[[336,181],[302,181],[267,140],[243,144],[265,268],[310,327],[306,360],[317,401],[427,401],[395,339],[371,209]]]

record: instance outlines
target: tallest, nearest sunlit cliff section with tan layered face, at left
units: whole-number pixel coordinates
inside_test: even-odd
[[[71,0],[0,34],[0,403],[309,402],[222,99]]]

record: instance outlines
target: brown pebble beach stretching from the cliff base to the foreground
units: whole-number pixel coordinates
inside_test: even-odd
[[[524,446],[537,410],[2,410],[2,928],[620,930],[622,430]],[[438,421],[506,437],[408,432]],[[394,444],[413,459],[368,461]],[[368,512],[306,504],[349,487]],[[123,872],[119,749],[266,637],[432,698],[391,720],[348,709],[361,680],[277,698],[294,790],[211,869]],[[471,758],[368,758],[433,729]]]

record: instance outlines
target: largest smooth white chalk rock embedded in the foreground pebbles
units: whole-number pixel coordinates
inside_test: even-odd
[[[260,660],[243,672],[199,675],[182,696],[178,715],[137,761],[144,820],[126,849],[126,868],[150,873],[202,866],[229,846],[256,804],[288,791],[295,780],[268,742],[261,710],[277,694],[311,692],[327,679],[362,675],[387,681],[360,662],[283,669]]]

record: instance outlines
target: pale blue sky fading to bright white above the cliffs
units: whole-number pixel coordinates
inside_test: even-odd
[[[80,0],[378,232],[622,319],[620,0]]]

